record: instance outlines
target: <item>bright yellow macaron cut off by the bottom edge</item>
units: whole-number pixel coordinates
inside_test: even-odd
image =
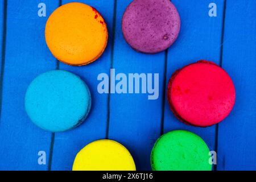
[[[76,155],[73,171],[135,171],[130,152],[114,140],[89,143]]]

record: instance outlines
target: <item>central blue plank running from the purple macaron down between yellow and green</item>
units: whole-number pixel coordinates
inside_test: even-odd
[[[159,73],[159,98],[148,94],[111,94],[109,138],[130,150],[138,170],[150,170],[150,153],[160,135],[164,52],[147,55],[134,51],[123,38],[122,15],[131,0],[117,1],[113,68],[115,74]]]

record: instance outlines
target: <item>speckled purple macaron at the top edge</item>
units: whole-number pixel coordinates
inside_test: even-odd
[[[135,50],[158,53],[177,39],[180,16],[170,0],[134,0],[123,14],[122,31]]]

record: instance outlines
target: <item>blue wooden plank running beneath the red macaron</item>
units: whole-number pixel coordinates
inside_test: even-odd
[[[209,60],[220,64],[222,0],[184,0],[172,1],[181,18],[181,31],[177,42],[168,50],[166,88],[168,81],[177,69],[198,60]],[[208,15],[210,3],[217,5],[217,17]],[[200,128],[180,122],[170,110],[165,93],[164,133],[172,130],[188,130],[196,133],[207,142],[210,150],[215,150],[216,125]],[[225,121],[224,121],[225,122]]]

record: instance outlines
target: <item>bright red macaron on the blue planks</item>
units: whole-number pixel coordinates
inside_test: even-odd
[[[201,60],[172,75],[167,98],[171,110],[180,121],[207,127],[229,115],[236,100],[236,91],[224,69]]]

